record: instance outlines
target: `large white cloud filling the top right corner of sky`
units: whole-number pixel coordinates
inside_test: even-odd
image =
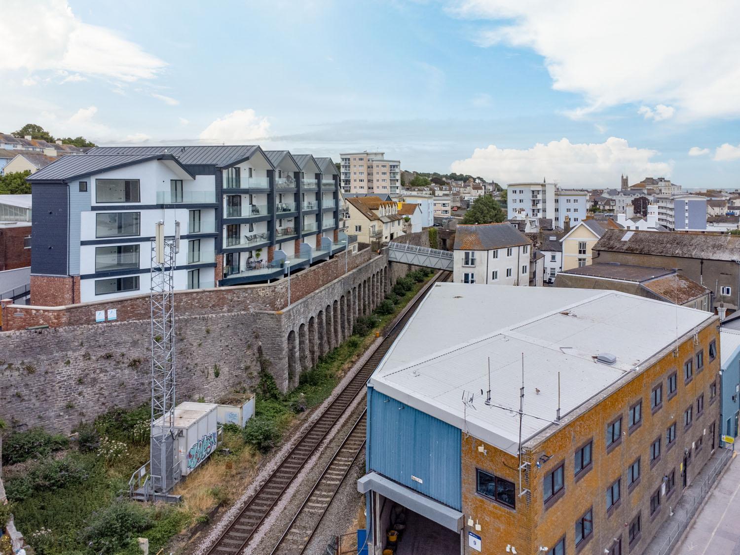
[[[448,0],[460,17],[491,20],[481,46],[545,58],[555,90],[585,97],[576,115],[619,104],[664,104],[682,117],[740,115],[740,2],[694,0]],[[636,39],[640,37],[640,39]],[[707,53],[711,53],[708,55]]]

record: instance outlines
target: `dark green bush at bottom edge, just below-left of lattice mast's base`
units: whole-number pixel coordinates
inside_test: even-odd
[[[134,534],[151,525],[146,508],[132,501],[116,501],[92,515],[80,539],[98,553],[115,553],[124,548]]]

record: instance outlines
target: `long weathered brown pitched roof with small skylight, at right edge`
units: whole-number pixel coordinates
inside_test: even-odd
[[[704,260],[740,260],[740,236],[608,229],[593,250]]]

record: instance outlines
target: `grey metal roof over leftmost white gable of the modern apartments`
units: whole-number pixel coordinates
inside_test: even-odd
[[[39,169],[38,172],[28,176],[27,181],[67,181],[81,178],[93,173],[104,172],[109,169],[130,166],[147,160],[170,160],[182,166],[171,155],[161,154],[98,154],[93,156],[61,156],[48,166]],[[183,168],[184,169],[184,168]]]

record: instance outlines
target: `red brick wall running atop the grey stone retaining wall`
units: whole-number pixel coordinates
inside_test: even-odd
[[[340,253],[332,260],[304,269],[290,277],[291,299],[302,299],[309,293],[320,289],[344,275],[345,254]],[[363,249],[349,254],[346,260],[348,270],[356,269],[369,262],[372,253]],[[32,291],[33,296],[33,279]],[[69,277],[53,278],[67,280]],[[69,287],[67,285],[67,287]],[[288,304],[288,284],[286,279],[260,285],[218,287],[215,289],[192,289],[175,292],[175,313],[195,316],[251,310],[280,310]],[[33,326],[82,326],[95,323],[98,310],[116,309],[118,322],[149,319],[149,295],[136,295],[118,300],[96,300],[64,306],[15,305],[0,300],[2,329],[12,332]]]

